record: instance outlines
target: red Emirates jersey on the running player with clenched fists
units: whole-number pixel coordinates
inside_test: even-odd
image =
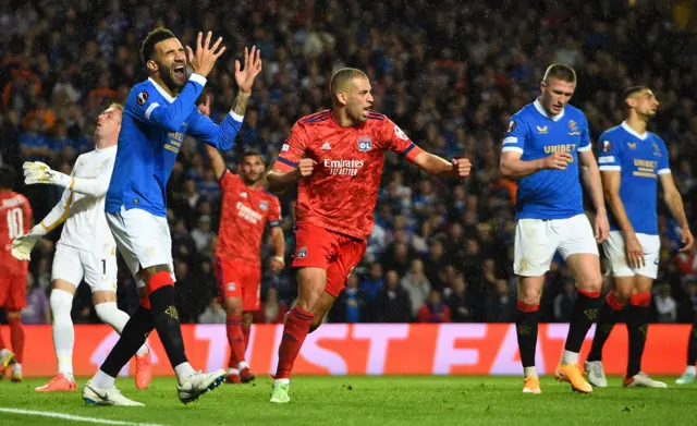
[[[301,158],[317,161],[298,183],[297,221],[365,239],[372,231],[384,150],[409,161],[421,153],[383,114],[371,112],[366,122],[342,127],[326,110],[295,123],[273,168],[291,171]]]

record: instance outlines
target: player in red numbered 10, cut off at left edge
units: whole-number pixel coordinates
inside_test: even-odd
[[[22,309],[26,307],[26,275],[28,261],[12,256],[12,240],[29,232],[32,206],[22,194],[12,192],[14,171],[0,167],[0,308],[4,308],[10,325],[12,353],[0,333],[0,375],[12,367],[12,381],[22,381],[24,326]],[[0,376],[1,377],[1,376]]]

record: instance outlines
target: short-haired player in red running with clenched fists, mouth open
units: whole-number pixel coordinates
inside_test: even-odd
[[[423,151],[387,117],[370,111],[366,74],[342,69],[330,82],[332,109],[302,118],[267,174],[271,191],[298,182],[296,248],[297,304],[285,318],[271,402],[290,401],[293,363],[310,327],[318,327],[366,249],[372,230],[386,150],[423,170],[449,177],[469,174],[469,160],[447,161]]]

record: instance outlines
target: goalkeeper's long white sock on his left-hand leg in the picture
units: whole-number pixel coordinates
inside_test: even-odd
[[[58,373],[72,377],[75,329],[70,311],[73,307],[73,295],[65,290],[53,289],[50,304],[53,313],[53,349],[58,358]]]

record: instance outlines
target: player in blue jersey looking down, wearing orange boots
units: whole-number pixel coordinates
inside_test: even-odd
[[[541,392],[535,366],[538,309],[545,273],[558,251],[576,279],[578,299],[554,376],[577,391],[592,391],[578,366],[578,352],[601,304],[597,244],[607,238],[609,224],[586,117],[567,105],[575,88],[572,68],[550,65],[542,94],[512,117],[502,144],[501,173],[521,180],[513,269],[518,277],[515,324],[525,393]],[[584,215],[579,162],[596,208],[595,232]]]

